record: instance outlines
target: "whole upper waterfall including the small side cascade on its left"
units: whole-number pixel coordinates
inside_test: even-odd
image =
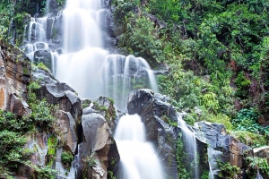
[[[32,18],[25,28],[25,52],[35,63],[46,64],[59,81],[76,90],[81,98],[114,98],[124,110],[130,90],[157,91],[151,67],[141,57],[111,55],[104,49],[101,24],[107,10],[100,0],[67,0],[59,13],[63,22],[62,50],[51,44],[56,18]],[[53,52],[52,52],[53,51]],[[60,55],[56,52],[61,52]],[[44,60],[44,55],[48,60]]]

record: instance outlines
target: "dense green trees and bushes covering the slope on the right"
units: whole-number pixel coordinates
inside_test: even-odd
[[[188,124],[221,123],[250,146],[268,144],[269,129],[261,125],[269,116],[267,1],[113,4],[117,46],[156,69],[169,65],[159,87],[188,112]]]

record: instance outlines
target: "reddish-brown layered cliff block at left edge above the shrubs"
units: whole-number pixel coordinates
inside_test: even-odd
[[[30,60],[19,50],[0,41],[0,108],[16,115],[30,115],[26,104],[30,83]]]

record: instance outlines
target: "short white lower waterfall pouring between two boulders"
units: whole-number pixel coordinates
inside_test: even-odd
[[[145,140],[145,128],[139,115],[124,115],[115,134],[120,154],[122,179],[162,179],[161,161],[152,143]]]

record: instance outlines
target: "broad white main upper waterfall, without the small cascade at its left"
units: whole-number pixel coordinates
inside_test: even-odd
[[[157,85],[143,58],[109,55],[103,49],[100,23],[106,10],[101,6],[100,0],[67,0],[63,12],[64,54],[56,60],[56,78],[73,87],[82,98],[107,96],[124,110],[130,90],[157,91]]]

